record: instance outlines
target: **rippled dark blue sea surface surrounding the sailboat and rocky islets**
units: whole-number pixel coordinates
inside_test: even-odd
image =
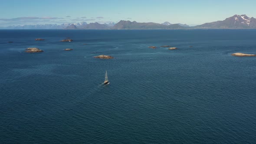
[[[256,30],[0,30],[0,143],[255,144],[256,57],[235,52]]]

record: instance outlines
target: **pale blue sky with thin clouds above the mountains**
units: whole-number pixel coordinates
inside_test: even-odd
[[[235,14],[256,17],[256,0],[4,0],[0,26],[92,22],[203,24]]]

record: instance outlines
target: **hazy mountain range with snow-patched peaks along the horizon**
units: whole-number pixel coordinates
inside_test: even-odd
[[[256,19],[244,15],[234,15],[223,21],[204,23],[198,26],[187,24],[138,23],[136,21],[120,20],[118,23],[66,23],[45,25],[8,26],[6,29],[256,29]]]

